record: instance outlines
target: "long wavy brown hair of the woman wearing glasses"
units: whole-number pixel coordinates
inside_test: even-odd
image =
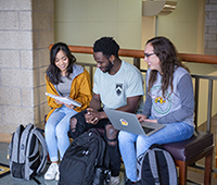
[[[171,87],[171,92],[174,91],[173,81],[174,81],[174,72],[178,66],[181,66],[189,71],[178,59],[177,50],[174,44],[165,37],[154,37],[146,41],[146,45],[151,44],[154,48],[154,53],[159,59],[159,66],[162,70],[162,91],[163,97],[165,98],[165,91],[167,90],[168,86]],[[149,88],[148,91],[150,92],[153,84],[156,81],[157,71],[152,70],[150,73],[149,79]],[[171,94],[170,92],[170,94]]]

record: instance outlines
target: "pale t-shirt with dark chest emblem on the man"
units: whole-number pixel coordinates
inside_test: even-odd
[[[143,76],[141,72],[125,61],[115,75],[97,69],[93,92],[100,95],[104,107],[117,109],[127,104],[128,97],[143,96]]]

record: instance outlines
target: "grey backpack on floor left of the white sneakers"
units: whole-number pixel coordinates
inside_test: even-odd
[[[39,128],[29,123],[22,124],[13,133],[9,146],[11,175],[14,178],[30,180],[42,173],[47,163],[47,145]]]

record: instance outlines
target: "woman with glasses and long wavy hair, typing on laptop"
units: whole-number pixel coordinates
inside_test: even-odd
[[[146,99],[140,122],[148,121],[166,126],[149,137],[119,132],[119,149],[128,181],[137,182],[137,157],[153,144],[167,144],[190,138],[194,133],[194,97],[191,75],[177,58],[171,41],[165,37],[150,39],[144,49]],[[136,148],[135,148],[136,143]]]

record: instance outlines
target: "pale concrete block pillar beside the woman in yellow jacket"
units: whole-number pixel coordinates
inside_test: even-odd
[[[53,41],[53,0],[0,0],[0,133],[43,122]]]

